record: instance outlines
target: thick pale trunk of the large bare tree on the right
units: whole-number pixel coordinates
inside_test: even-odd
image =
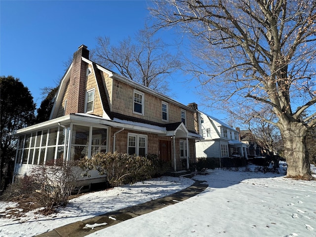
[[[304,180],[315,179],[305,143],[307,128],[301,122],[281,122],[280,133],[284,144],[284,157],[288,163],[286,176]]]

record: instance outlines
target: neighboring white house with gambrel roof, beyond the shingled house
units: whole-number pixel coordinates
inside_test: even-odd
[[[248,145],[240,142],[239,131],[200,111],[197,120],[199,134],[204,138],[196,142],[197,158],[225,158],[232,155],[248,158]]]

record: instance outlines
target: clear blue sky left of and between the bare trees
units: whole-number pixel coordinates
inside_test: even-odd
[[[81,44],[93,49],[98,36],[108,36],[111,42],[133,37],[150,19],[147,4],[145,0],[0,0],[0,75],[19,78],[39,106],[41,88],[57,85],[66,70],[64,62]],[[170,81],[173,99],[200,104],[197,82],[185,80],[177,76]],[[220,113],[198,108],[223,119]]]

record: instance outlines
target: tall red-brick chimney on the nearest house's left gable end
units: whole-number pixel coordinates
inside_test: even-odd
[[[65,115],[84,113],[87,63],[81,57],[89,59],[89,50],[83,44],[74,53]]]

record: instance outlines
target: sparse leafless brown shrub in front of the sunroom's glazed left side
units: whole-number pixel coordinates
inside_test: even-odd
[[[9,185],[1,198],[35,198],[44,207],[43,214],[53,213],[57,206],[67,204],[72,191],[79,185],[81,170],[77,164],[75,161],[57,159],[48,161],[45,165],[37,165],[29,176],[16,179]]]

